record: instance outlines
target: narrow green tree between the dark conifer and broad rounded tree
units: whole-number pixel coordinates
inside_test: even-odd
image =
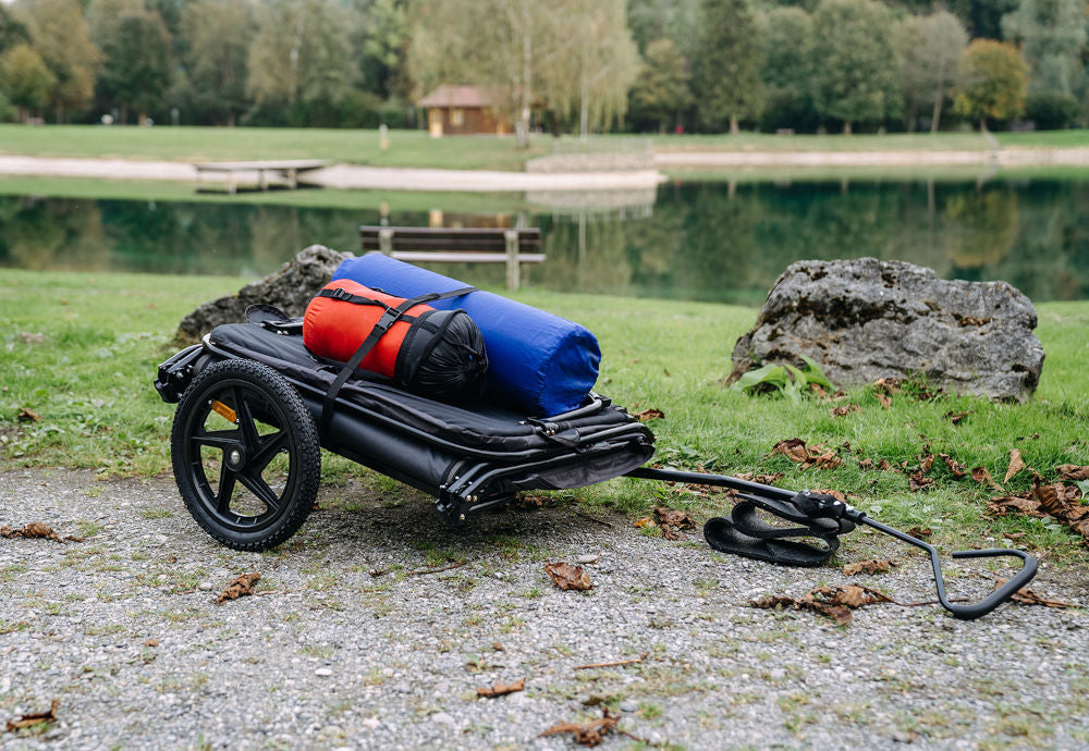
[[[775,8],[757,17],[760,77],[766,91],[763,124],[769,128],[816,127],[812,95],[812,17],[800,8]]]

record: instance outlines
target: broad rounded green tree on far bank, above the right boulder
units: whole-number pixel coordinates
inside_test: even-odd
[[[891,11],[873,0],[822,0],[813,13],[813,103],[846,134],[900,109],[892,26]]]

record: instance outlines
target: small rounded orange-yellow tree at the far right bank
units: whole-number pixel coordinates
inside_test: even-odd
[[[1008,42],[976,39],[960,56],[960,84],[953,103],[958,114],[979,121],[987,132],[987,119],[1008,120],[1025,109],[1028,63]]]

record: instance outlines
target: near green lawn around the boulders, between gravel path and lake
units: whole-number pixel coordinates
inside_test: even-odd
[[[156,365],[173,353],[169,342],[185,313],[238,286],[237,279],[223,278],[0,270],[0,471],[84,467],[100,470],[103,479],[168,471],[172,407],[151,387]],[[1054,524],[986,517],[983,502],[993,493],[967,477],[956,480],[939,466],[941,460],[931,471],[935,485],[926,493],[909,492],[905,473],[858,465],[869,458],[915,466],[923,451],[921,435],[935,455],[987,467],[1000,481],[1014,447],[1049,477],[1060,464],[1089,464],[1089,303],[1039,306],[1038,334],[1048,359],[1028,404],[955,396],[917,402],[897,395],[883,409],[862,387],[842,403],[858,404],[860,410],[833,418],[832,405],[817,399],[795,406],[722,387],[733,343],[751,325],[754,309],[538,291],[517,297],[594,329],[604,353],[598,390],[633,410],[665,413],[651,423],[659,461],[730,473],[785,472],[783,487],[842,490],[885,521],[933,528],[933,539],[943,545],[1026,532],[1021,542],[1052,551],[1056,561],[1089,556],[1075,535]],[[632,315],[636,306],[643,315]],[[24,408],[41,419],[21,421]],[[970,414],[954,424],[945,417],[951,411]],[[768,456],[778,441],[791,438],[840,447],[843,465],[802,472],[783,456]],[[329,457],[325,471],[331,480],[344,472],[369,477]],[[1028,473],[1021,472],[1005,488],[1016,492],[1028,484]],[[633,480],[566,495],[590,508],[629,514],[661,503],[703,514],[722,506],[714,496]]]

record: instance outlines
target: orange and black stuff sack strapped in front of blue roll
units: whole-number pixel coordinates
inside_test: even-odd
[[[405,303],[358,282],[330,282],[303,316],[303,343],[318,357],[347,362],[387,321],[387,311]],[[384,317],[384,318],[383,318]],[[358,370],[430,397],[479,393],[488,367],[484,336],[464,310],[408,308],[381,334]]]

